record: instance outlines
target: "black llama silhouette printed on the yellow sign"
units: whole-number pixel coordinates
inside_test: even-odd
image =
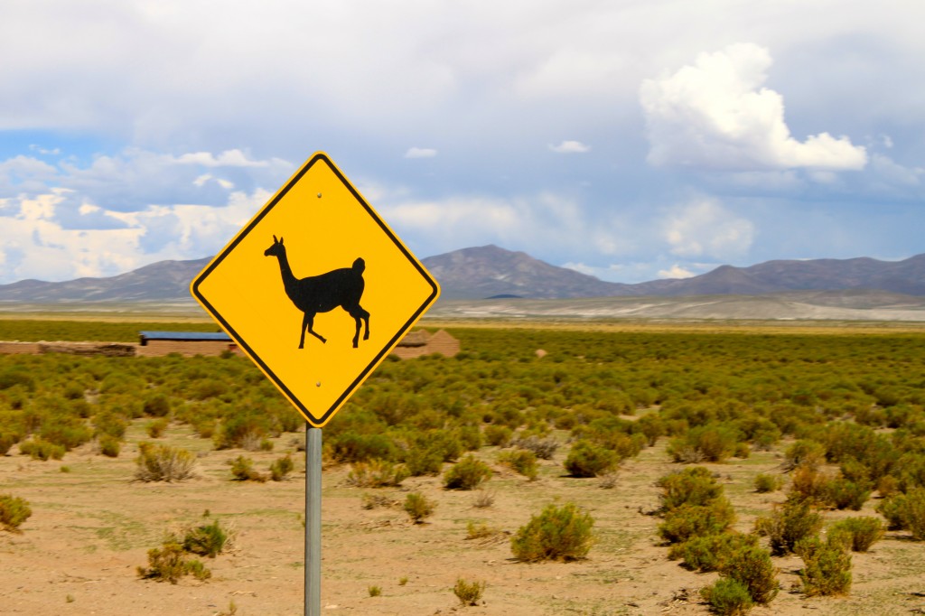
[[[343,308],[356,320],[356,333],[353,335],[353,348],[356,349],[360,340],[360,319],[363,319],[366,330],[363,339],[369,339],[369,313],[360,305],[360,298],[363,297],[364,280],[363,270],[366,264],[363,259],[358,258],[353,262],[352,267],[342,267],[327,274],[319,276],[309,276],[297,278],[292,274],[292,268],[289,265],[289,259],[286,258],[286,247],[283,246],[283,239],[277,240],[273,236],[273,245],[264,251],[264,256],[275,256],[279,259],[279,271],[283,275],[283,287],[286,288],[286,295],[295,307],[305,313],[302,318],[302,336],[299,338],[299,348],[305,344],[305,329],[308,333],[322,342],[327,340],[316,333],[314,326],[314,315],[318,313],[327,313],[338,306]]]

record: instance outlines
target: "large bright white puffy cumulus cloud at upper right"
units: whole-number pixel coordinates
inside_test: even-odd
[[[783,117],[783,96],[763,87],[771,54],[739,43],[700,54],[671,77],[645,80],[648,162],[722,170],[808,167],[857,170],[867,152],[827,132],[798,142]]]

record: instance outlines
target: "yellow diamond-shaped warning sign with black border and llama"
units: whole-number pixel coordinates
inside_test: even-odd
[[[192,281],[192,295],[322,427],[439,288],[327,154],[314,154]]]

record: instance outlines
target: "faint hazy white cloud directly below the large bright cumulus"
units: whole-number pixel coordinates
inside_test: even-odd
[[[715,199],[702,198],[673,209],[663,224],[672,254],[730,259],[747,253],[755,226],[727,212]]]

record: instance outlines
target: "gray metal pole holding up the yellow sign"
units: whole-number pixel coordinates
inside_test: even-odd
[[[321,428],[305,427],[305,616],[321,616]]]

